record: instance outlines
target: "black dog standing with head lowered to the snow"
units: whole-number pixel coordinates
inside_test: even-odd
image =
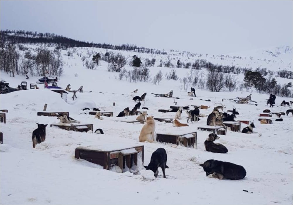
[[[157,178],[159,174],[158,168],[161,167],[163,171],[163,177],[166,178],[165,169],[169,168],[167,165],[167,153],[164,148],[158,148],[156,151],[151,154],[151,161],[148,166],[144,166],[147,170],[152,170]]]

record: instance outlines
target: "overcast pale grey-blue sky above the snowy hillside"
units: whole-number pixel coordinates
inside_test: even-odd
[[[293,1],[0,1],[1,30],[230,53],[293,41]]]

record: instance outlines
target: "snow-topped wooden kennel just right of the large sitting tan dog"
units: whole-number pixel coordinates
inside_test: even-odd
[[[190,132],[185,134],[164,134],[164,133],[157,133],[156,140],[158,142],[168,142],[172,144],[183,144],[185,147],[195,148],[197,146],[197,132]]]

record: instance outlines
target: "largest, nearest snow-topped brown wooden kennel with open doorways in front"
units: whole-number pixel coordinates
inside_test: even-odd
[[[144,161],[144,146],[129,147],[127,149],[100,150],[94,147],[77,147],[75,157],[103,166],[110,170],[112,166],[119,166],[122,170],[137,173],[138,157]],[[125,165],[127,167],[125,167]]]

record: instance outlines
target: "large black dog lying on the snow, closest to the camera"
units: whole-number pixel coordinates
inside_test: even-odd
[[[239,180],[246,176],[246,170],[243,166],[231,162],[210,159],[200,166],[203,167],[206,175],[212,178]]]

